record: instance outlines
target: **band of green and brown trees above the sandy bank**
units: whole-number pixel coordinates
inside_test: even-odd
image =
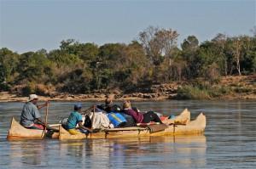
[[[200,42],[191,35],[177,45],[179,34],[172,29],[149,26],[129,44],[61,41],[60,48],[47,52],[17,54],[0,49],[0,90],[31,92],[47,90],[92,93],[203,77],[248,75],[256,72],[256,36],[227,37],[218,34]],[[39,85],[39,86],[38,86]],[[23,91],[23,90],[21,90]]]

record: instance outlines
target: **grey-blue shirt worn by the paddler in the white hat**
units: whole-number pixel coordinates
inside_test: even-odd
[[[38,107],[31,102],[26,102],[20,115],[20,124],[24,127],[29,127],[40,117],[41,115],[38,111]]]

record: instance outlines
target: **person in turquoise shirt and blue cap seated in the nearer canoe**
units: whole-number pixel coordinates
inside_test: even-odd
[[[73,106],[73,112],[69,115],[67,119],[67,131],[71,133],[72,135],[80,134],[82,133],[88,133],[91,132],[91,130],[87,127],[84,127],[82,122],[82,105],[81,104],[74,104]],[[77,125],[79,124],[79,127],[77,130]]]

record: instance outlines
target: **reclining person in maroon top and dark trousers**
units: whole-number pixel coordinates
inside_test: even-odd
[[[148,111],[147,113],[143,114],[141,112],[133,110],[131,108],[130,101],[124,102],[123,110],[126,115],[131,115],[137,123],[148,123],[150,121],[154,121],[154,122],[160,122],[160,124],[163,124],[163,122],[160,120],[159,116],[156,115],[153,111]]]

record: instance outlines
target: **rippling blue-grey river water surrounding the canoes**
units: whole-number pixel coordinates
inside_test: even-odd
[[[0,103],[0,168],[256,168],[256,101],[132,104],[165,115],[178,115],[188,108],[192,119],[204,112],[206,131],[175,138],[7,141],[9,121],[12,116],[20,119],[23,104]],[[66,117],[72,109],[71,102],[51,102],[49,123]]]

